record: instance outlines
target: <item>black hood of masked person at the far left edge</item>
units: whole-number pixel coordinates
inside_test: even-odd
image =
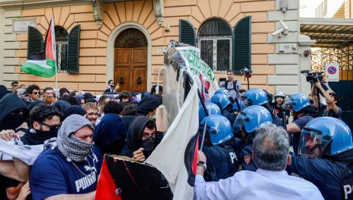
[[[9,128],[9,125],[7,123],[4,123],[4,120],[6,120],[6,116],[9,113],[12,113],[13,111],[16,111],[18,109],[23,110],[23,121],[25,121],[26,118],[28,118],[28,108],[25,105],[25,103],[16,95],[16,94],[6,94],[4,98],[1,99],[0,101],[0,131],[1,130],[7,130],[7,129],[15,129],[16,127]],[[20,123],[20,124],[22,124]],[[20,125],[18,125],[20,126]]]

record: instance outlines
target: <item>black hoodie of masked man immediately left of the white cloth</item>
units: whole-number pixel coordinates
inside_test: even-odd
[[[149,121],[150,118],[147,118],[145,116],[138,116],[135,118],[135,120],[133,120],[133,123],[131,123],[128,129],[128,135],[126,137],[125,146],[121,151],[121,155],[132,158],[133,151],[137,151],[138,149],[140,149],[140,147],[142,147],[143,130],[145,129],[145,126]]]

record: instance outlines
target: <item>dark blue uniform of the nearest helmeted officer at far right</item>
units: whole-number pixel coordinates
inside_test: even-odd
[[[342,199],[341,182],[352,177],[351,164],[325,158],[310,159],[295,154],[291,156],[292,164],[288,168],[292,173],[316,185],[325,199]]]

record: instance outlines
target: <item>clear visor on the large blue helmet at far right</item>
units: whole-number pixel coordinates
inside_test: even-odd
[[[320,158],[323,154],[327,142],[323,142],[323,137],[316,130],[301,130],[298,154],[309,158]]]

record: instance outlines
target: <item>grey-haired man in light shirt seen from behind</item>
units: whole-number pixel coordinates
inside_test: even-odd
[[[285,171],[291,163],[288,135],[282,127],[264,125],[253,139],[253,160],[258,170],[240,171],[218,182],[205,182],[206,158],[198,152],[194,199],[323,199],[311,182],[290,176]]]

